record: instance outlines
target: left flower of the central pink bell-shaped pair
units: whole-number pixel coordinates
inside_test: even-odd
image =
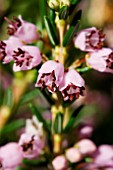
[[[63,80],[64,66],[57,61],[47,61],[42,65],[39,70],[36,87],[47,89],[50,92],[54,92],[56,87],[59,87]]]

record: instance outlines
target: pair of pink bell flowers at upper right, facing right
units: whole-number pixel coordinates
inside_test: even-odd
[[[95,27],[82,30],[74,39],[75,47],[86,54],[86,63],[89,67],[100,72],[113,73],[113,50],[103,48],[105,35]]]

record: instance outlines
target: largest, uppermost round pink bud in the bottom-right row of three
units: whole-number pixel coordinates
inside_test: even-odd
[[[87,155],[96,151],[96,145],[89,139],[82,139],[75,144],[81,154]]]

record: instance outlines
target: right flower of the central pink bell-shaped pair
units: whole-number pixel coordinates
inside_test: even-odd
[[[73,100],[83,95],[84,80],[75,70],[68,70],[64,74],[64,79],[59,87],[64,100]]]

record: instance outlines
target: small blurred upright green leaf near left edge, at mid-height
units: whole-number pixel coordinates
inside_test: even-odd
[[[11,107],[12,104],[13,104],[12,89],[11,89],[11,87],[9,87],[5,92],[4,99],[3,99],[3,105]]]

